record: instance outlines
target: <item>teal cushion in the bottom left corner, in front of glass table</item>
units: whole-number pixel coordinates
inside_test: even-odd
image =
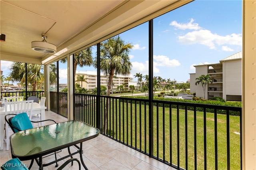
[[[8,160],[5,164],[1,165],[2,170],[28,170],[25,164],[23,164],[19,158]]]

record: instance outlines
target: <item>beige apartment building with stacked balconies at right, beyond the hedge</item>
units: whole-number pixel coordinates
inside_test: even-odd
[[[190,73],[190,92],[204,97],[201,83],[196,78],[209,74],[212,83],[206,85],[206,99],[222,97],[226,101],[242,101],[242,51],[220,60],[220,63],[194,65],[196,73]]]

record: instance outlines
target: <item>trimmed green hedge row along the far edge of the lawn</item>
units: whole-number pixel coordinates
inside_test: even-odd
[[[125,96],[127,98],[136,98],[136,99],[148,99],[148,97],[144,97],[144,96],[138,96],[138,97],[132,97],[132,96]],[[184,99],[164,99],[163,97],[156,97],[154,99],[157,100],[164,100],[164,101],[176,101],[176,102],[185,102],[185,103],[198,103],[198,104],[207,104],[207,105],[221,105],[221,106],[230,106],[230,107],[242,107],[242,102],[237,102],[237,101],[213,101],[213,100],[206,100],[206,101],[192,101],[192,100],[184,100]],[[135,103],[135,101],[132,101],[132,103]],[[137,102],[138,104],[139,102]],[[144,104],[144,102],[141,102],[142,104]],[[148,105],[148,102],[146,102],[146,105]],[[153,103],[153,105],[156,105],[156,103]],[[158,103],[159,107],[162,107],[163,104],[162,103]],[[168,104],[164,105],[165,107],[169,107]],[[177,105],[172,105],[172,108],[177,109]],[[179,105],[179,109],[185,109],[185,106],[183,105]],[[187,107],[188,110],[190,111],[194,111],[194,107]],[[196,111],[204,111],[204,108],[202,107],[196,107]],[[206,112],[208,113],[214,113],[214,109],[209,109],[206,108]],[[224,114],[226,115],[226,110],[217,110],[218,114]],[[235,116],[240,116],[240,112],[238,111],[230,111],[230,115],[235,115]]]

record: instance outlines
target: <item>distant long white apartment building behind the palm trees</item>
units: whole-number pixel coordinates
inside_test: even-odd
[[[76,81],[78,75],[84,75],[84,79],[86,81]],[[76,71],[75,81],[78,83],[81,87],[93,90],[95,87],[97,87],[97,71]],[[104,75],[103,73],[100,73],[100,85],[108,86],[108,77]],[[132,74],[128,76],[123,75],[115,75],[113,78],[113,87],[112,90],[118,90],[117,87],[120,85],[126,84],[125,88],[128,88],[129,85],[133,85],[133,76]]]

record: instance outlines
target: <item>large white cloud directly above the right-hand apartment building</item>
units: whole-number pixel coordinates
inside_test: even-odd
[[[184,36],[178,36],[178,41],[182,44],[202,44],[216,49],[216,45],[242,45],[242,34],[231,34],[230,36],[219,36],[212,34],[209,30],[199,30],[188,32]]]

